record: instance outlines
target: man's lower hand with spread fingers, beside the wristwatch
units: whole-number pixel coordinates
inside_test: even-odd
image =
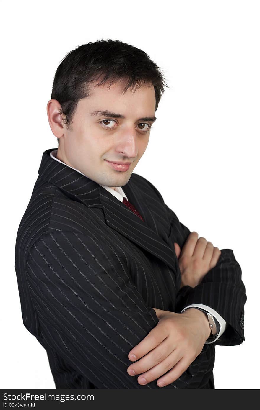
[[[196,359],[211,334],[206,315],[189,308],[183,313],[168,312],[153,307],[159,322],[128,354],[138,360],[127,368],[130,376],[140,374],[138,383],[145,385],[157,380],[164,385],[173,383]],[[136,355],[132,358],[131,355]],[[134,370],[135,374],[131,373]],[[170,371],[168,371],[170,370]],[[166,371],[168,371],[167,374]],[[142,378],[146,381],[142,381]]]

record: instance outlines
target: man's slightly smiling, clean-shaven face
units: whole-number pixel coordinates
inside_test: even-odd
[[[78,103],[71,123],[72,130],[63,126],[57,153],[61,161],[98,184],[112,188],[128,182],[146,150],[149,125],[154,122],[143,119],[154,117],[154,87],[146,84],[135,93],[128,89],[122,95],[124,84],[117,82],[110,89],[107,84],[99,87],[91,85],[92,95]],[[94,115],[93,112],[97,111],[120,114],[124,118],[112,114]],[[109,161],[130,162],[130,165],[122,168],[113,166]]]

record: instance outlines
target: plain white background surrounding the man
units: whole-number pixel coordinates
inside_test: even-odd
[[[259,1],[9,1],[1,28],[1,388],[55,389],[46,351],[23,326],[14,269],[18,225],[41,156],[55,70],[99,39],[141,48],[166,89],[134,172],[191,231],[231,248],[246,287],[245,342],[216,346],[216,389],[258,389]]]

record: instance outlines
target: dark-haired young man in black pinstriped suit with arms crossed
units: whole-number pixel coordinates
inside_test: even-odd
[[[15,269],[57,389],[214,389],[214,346],[244,340],[232,250],[198,239],[133,173],[163,86],[145,52],[112,40],[71,51],[55,73],[58,150],[42,155]]]

